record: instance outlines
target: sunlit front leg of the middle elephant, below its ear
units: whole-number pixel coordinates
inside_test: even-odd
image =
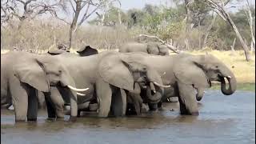
[[[96,93],[98,101],[98,117],[106,118],[110,113],[112,90],[110,84],[103,80],[96,82]]]

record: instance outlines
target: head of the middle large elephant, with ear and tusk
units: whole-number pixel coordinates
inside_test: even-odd
[[[113,86],[124,90],[134,91],[134,84],[138,82],[140,86],[152,83],[162,90],[162,78],[153,68],[134,62],[132,59],[118,55],[112,55],[102,60],[99,65],[99,74]],[[157,89],[158,90],[158,89]],[[153,93],[156,90],[152,88]],[[156,102],[161,99],[162,94],[150,95],[150,100]]]

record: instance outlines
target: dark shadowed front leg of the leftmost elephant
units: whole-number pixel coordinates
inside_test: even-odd
[[[27,121],[36,121],[38,118],[38,97],[37,90],[30,87],[30,94],[28,97]]]

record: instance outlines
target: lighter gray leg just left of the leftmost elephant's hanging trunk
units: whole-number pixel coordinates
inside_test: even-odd
[[[57,118],[64,118],[64,100],[58,88],[55,86],[50,87],[50,99],[54,104],[54,110]]]

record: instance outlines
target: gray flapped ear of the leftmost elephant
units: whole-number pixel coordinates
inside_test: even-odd
[[[21,65],[14,66],[14,75],[24,83],[42,92],[49,92],[50,84],[46,78],[42,66],[36,62],[21,62]]]

